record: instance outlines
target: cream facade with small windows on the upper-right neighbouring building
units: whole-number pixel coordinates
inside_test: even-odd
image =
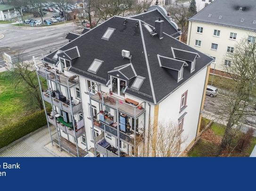
[[[198,32],[198,27],[203,28],[202,33]],[[255,36],[255,33],[217,24],[190,21],[187,45],[215,57],[215,63],[211,64],[211,69],[225,71],[224,55],[228,53],[228,47],[233,48],[239,40],[248,38],[248,36]],[[217,45],[217,50],[212,48],[212,44]]]

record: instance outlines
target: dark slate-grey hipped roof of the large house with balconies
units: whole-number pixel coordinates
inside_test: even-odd
[[[127,21],[126,25],[124,25],[124,19]],[[136,27],[137,21],[139,23],[138,27]],[[151,37],[147,29],[142,26],[143,23],[141,20],[134,18],[114,16],[59,50],[65,51],[77,46],[81,54],[80,57],[72,61],[72,67],[69,70],[105,85],[109,82],[109,71],[130,63],[129,59],[123,58],[122,50],[130,51],[132,55],[131,63],[136,75],[145,77],[145,80],[140,90],[136,92],[131,89],[135,79],[133,77],[127,83],[129,85],[125,93],[157,104],[192,76],[196,75],[198,71],[209,65],[213,58],[200,53],[165,33],[162,39],[159,39],[158,36]],[[108,27],[116,30],[108,40],[102,39]],[[195,71],[190,73],[190,70],[184,69],[183,79],[179,83],[170,75],[170,69],[159,66],[157,54],[173,58],[171,47],[198,53],[200,56],[200,58],[197,58]],[[51,53],[47,57],[52,58],[54,54]],[[88,72],[88,69],[95,58],[104,61],[104,63],[96,74],[92,74]],[[131,72],[131,70],[129,71]],[[131,77],[126,70],[125,75]]]

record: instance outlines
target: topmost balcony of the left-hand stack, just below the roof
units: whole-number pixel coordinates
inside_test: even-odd
[[[38,74],[52,81],[56,81],[66,87],[72,87],[79,84],[78,76],[65,76],[63,73],[59,73],[58,69],[51,69],[49,66],[38,66]]]

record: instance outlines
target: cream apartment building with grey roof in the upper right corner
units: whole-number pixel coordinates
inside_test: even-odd
[[[232,64],[224,55],[242,38],[255,40],[255,13],[255,0],[215,0],[189,19],[187,44],[215,58],[211,72],[224,72]]]

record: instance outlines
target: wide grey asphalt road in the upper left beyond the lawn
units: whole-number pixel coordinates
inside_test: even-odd
[[[48,19],[49,13],[43,19]],[[40,18],[35,18],[39,20]],[[13,24],[0,24],[0,52],[5,52],[15,61],[18,55],[22,55],[23,61],[32,61],[42,58],[56,49],[68,43],[66,34],[74,32],[79,34],[82,29],[74,26],[74,23],[64,23],[50,26],[26,26],[19,27]],[[4,67],[2,55],[0,54],[0,68]]]

